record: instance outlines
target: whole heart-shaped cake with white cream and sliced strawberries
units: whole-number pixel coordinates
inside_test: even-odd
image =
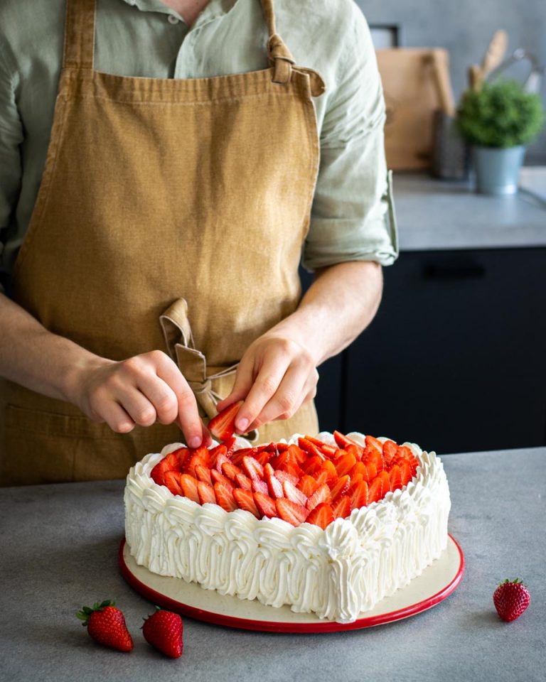
[[[444,467],[362,433],[242,438],[149,454],[124,492],[129,551],[152,573],[350,623],[446,548]]]

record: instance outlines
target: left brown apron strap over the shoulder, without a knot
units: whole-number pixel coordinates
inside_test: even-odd
[[[93,68],[95,0],[66,0],[63,68]]]

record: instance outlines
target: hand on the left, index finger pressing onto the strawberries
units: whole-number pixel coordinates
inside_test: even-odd
[[[196,397],[164,352],[152,350],[121,362],[95,356],[75,369],[71,384],[70,400],[117,433],[129,433],[136,424],[177,421],[191,448],[210,445]]]

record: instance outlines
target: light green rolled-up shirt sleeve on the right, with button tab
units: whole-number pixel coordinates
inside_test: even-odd
[[[310,271],[343,261],[390,265],[398,254],[380,75],[368,24],[357,6],[351,19],[338,77],[326,95],[321,163],[303,254]]]

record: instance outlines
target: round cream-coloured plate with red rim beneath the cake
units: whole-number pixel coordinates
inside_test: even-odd
[[[464,573],[463,552],[449,535],[439,559],[409,585],[382,599],[355,622],[338,623],[312,613],[294,613],[289,606],[265,606],[257,600],[220,595],[196,583],[156,575],[134,561],[125,539],[119,546],[118,561],[127,583],[158,606],[217,625],[263,632],[341,632],[395,622],[426,611],[449,597]]]

